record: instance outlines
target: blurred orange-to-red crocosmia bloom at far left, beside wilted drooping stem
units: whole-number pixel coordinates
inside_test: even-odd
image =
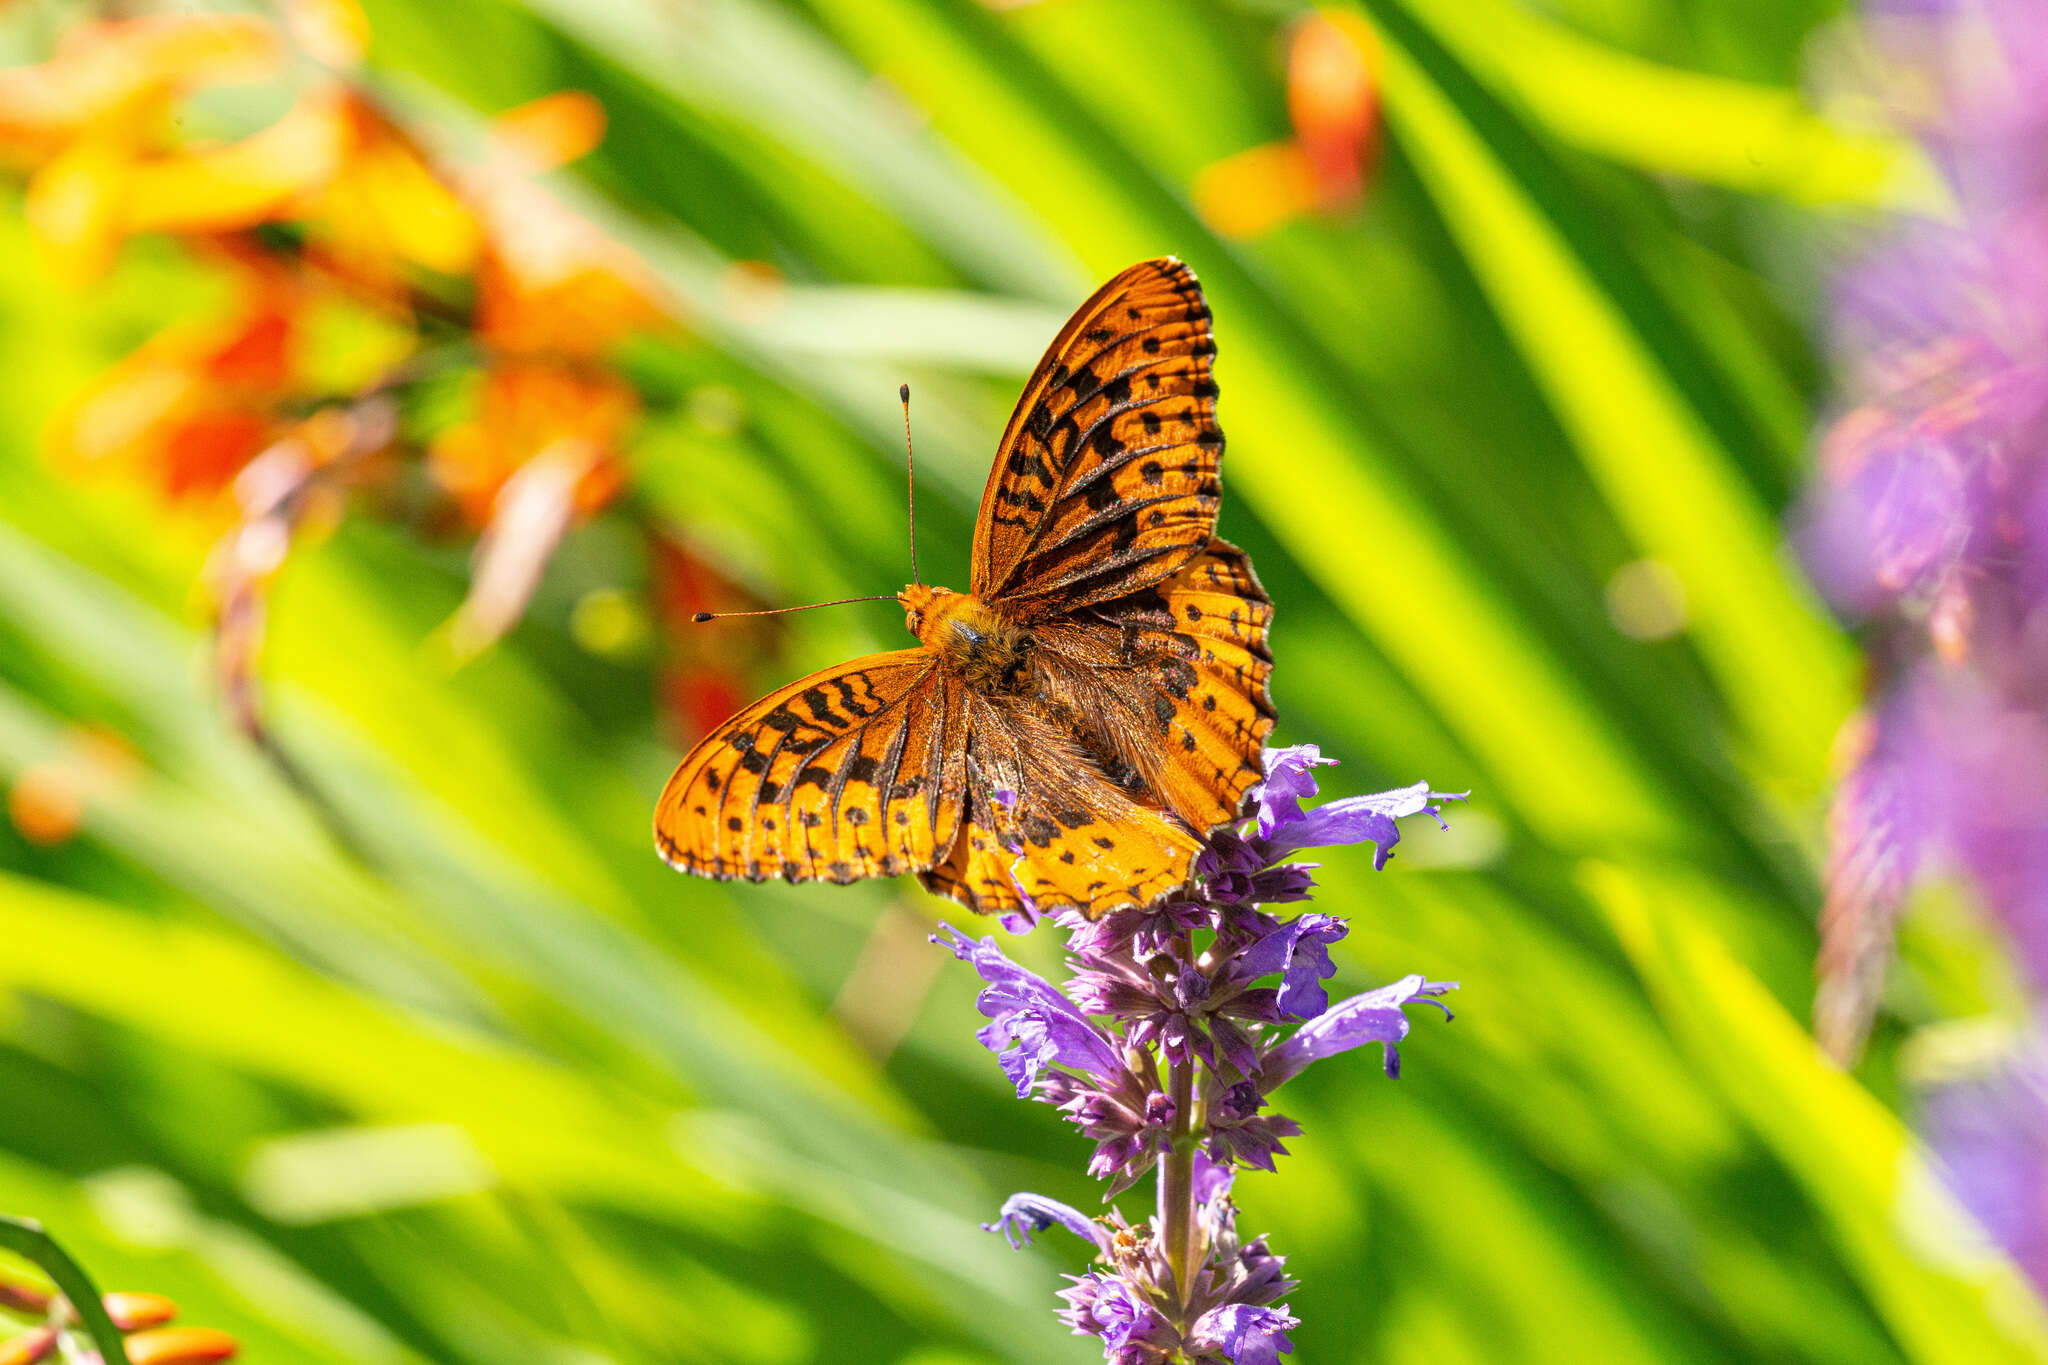
[[[272,440],[299,342],[299,291],[256,274],[225,315],[176,323],[100,375],[45,444],[66,463],[137,471],[170,497],[215,493]]]

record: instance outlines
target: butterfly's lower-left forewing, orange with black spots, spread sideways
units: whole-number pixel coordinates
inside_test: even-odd
[[[793,681],[682,759],[655,806],[655,847],[719,880],[922,872],[958,831],[965,702],[922,649]]]

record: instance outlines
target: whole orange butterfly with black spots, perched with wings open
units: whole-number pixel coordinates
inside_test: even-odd
[[[911,583],[915,649],[707,735],[655,806],[662,857],[754,882],[913,872],[973,911],[1090,919],[1186,886],[1274,724],[1272,602],[1214,534],[1214,354],[1182,262],[1098,289],[1004,430],[969,591]]]

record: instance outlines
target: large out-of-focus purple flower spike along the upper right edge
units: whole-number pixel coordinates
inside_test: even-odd
[[[1843,1058],[1929,872],[1968,876],[2048,988],[2048,4],[1876,0],[1866,33],[1956,215],[1837,280],[1843,411],[1798,530],[1872,639],[1815,1001]]]

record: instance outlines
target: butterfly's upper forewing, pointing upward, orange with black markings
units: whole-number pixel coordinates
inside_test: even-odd
[[[1038,620],[1151,587],[1217,528],[1217,342],[1194,270],[1145,260],[1047,348],[995,452],[973,593]]]

